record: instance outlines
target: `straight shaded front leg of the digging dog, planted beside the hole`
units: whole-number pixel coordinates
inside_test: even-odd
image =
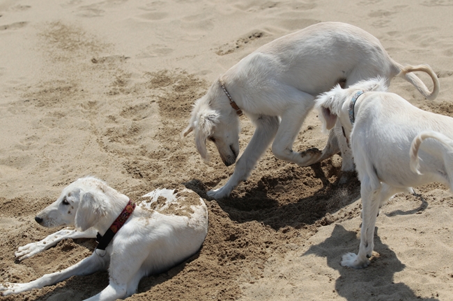
[[[266,152],[266,149],[275,137],[275,133],[277,133],[277,129],[279,128],[279,118],[276,116],[261,116],[257,118],[254,123],[256,129],[252,139],[236,163],[236,168],[227,181],[227,184],[219,189],[209,190],[207,193],[208,196],[217,200],[229,196],[231,191],[238,186],[240,181],[245,181],[249,177],[256,162],[258,162],[259,158]]]

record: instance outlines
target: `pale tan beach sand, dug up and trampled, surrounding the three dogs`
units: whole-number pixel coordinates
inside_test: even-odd
[[[357,252],[358,181],[337,184],[341,158],[309,168],[270,151],[249,181],[216,202],[205,191],[226,168],[181,139],[191,105],[257,47],[316,22],[360,26],[402,64],[428,63],[436,101],[406,81],[390,90],[453,115],[453,1],[18,0],[0,1],[0,282],[29,282],[91,254],[91,240],[61,242],[23,262],[17,247],[55,229],[34,214],[78,177],[94,175],[137,199],[185,184],[205,198],[199,253],[145,277],[127,300],[453,300],[453,197],[445,186],[397,195],[377,221],[365,270],[339,265]],[[429,79],[423,78],[429,83]],[[241,120],[241,149],[252,135]],[[325,145],[312,112],[294,149]],[[82,300],[107,272],[0,300]]]

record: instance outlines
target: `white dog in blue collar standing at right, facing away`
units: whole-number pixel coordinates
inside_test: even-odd
[[[429,73],[438,86],[436,74],[427,66],[407,68],[406,72]],[[435,87],[436,89],[436,87]],[[365,268],[374,248],[374,226],[379,208],[392,195],[408,192],[412,186],[433,181],[453,186],[452,157],[435,136],[422,131],[436,131],[453,138],[453,118],[422,111],[394,93],[385,92],[385,79],[360,81],[347,89],[339,86],[316,100],[324,129],[331,129],[337,119],[350,139],[355,167],[361,182],[362,228],[358,255],[345,254],[341,265]],[[436,137],[438,138],[438,137]],[[427,139],[422,143],[423,139]],[[414,141],[414,142],[413,142]],[[409,155],[411,152],[411,156]],[[417,170],[420,155],[420,172]],[[411,162],[411,157],[412,161]],[[411,168],[412,166],[412,168]]]

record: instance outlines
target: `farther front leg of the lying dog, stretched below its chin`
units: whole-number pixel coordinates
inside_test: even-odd
[[[26,258],[32,257],[44,250],[49,249],[49,247],[53,247],[63,239],[67,238],[95,238],[96,231],[94,229],[88,229],[86,231],[77,231],[72,229],[61,229],[60,231],[56,231],[53,234],[50,234],[42,241],[38,241],[36,243],[29,243],[17,249],[15,252],[15,257],[17,260],[22,261]]]

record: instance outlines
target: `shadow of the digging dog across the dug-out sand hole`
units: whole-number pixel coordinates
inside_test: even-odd
[[[355,172],[341,172],[340,168],[333,167],[330,161],[323,164],[328,165],[328,168],[325,166],[322,168],[320,163],[299,170],[288,165],[285,172],[292,173],[293,178],[282,179],[281,175],[267,174],[256,183],[249,182],[245,187],[238,188],[238,190],[243,190],[242,193],[233,191],[230,197],[215,202],[235,222],[262,222],[275,231],[288,226],[300,229],[305,225],[315,225],[317,222],[324,225],[323,220],[326,216],[360,199],[360,181]],[[301,178],[307,172],[312,172],[310,181],[318,181],[318,184],[312,187],[312,190],[313,188],[318,188],[318,190],[312,191],[312,193],[303,193],[301,189],[300,181],[305,181]],[[332,175],[337,177],[336,181],[330,181]],[[203,181],[192,179],[183,185],[194,190],[208,202],[214,201],[206,195],[210,185],[206,185]],[[283,192],[275,193],[275,190],[282,190],[282,188],[284,188]],[[301,191],[303,196],[298,198],[295,193]],[[415,197],[422,201],[416,209],[394,211],[387,215],[409,215],[424,211],[428,206],[426,200],[421,195],[415,194]],[[355,210],[351,214],[358,215],[359,213],[358,210]]]

